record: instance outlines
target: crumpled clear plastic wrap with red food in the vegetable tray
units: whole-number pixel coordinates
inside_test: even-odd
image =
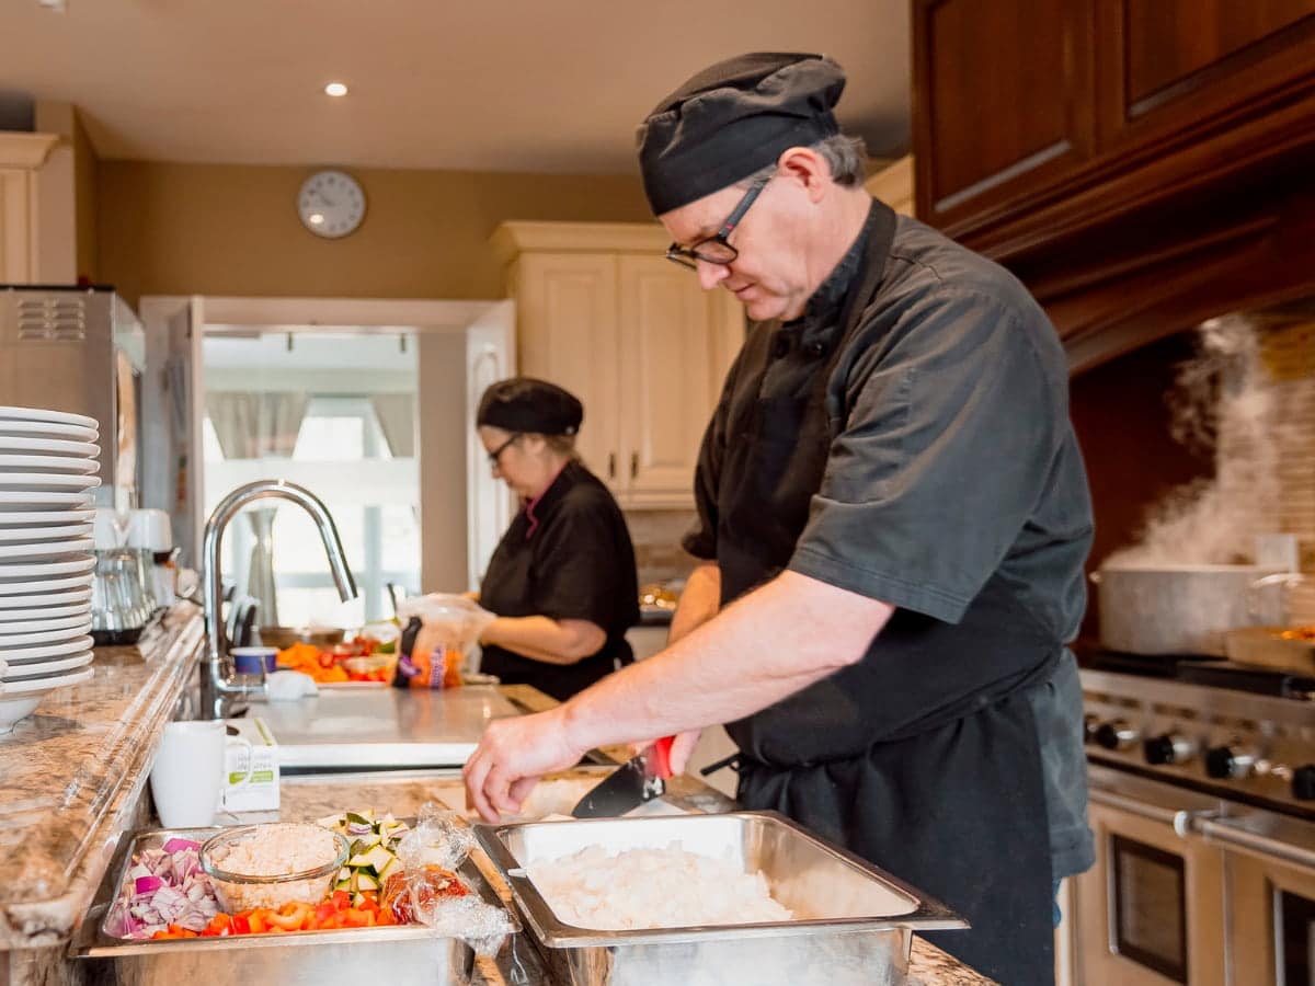
[[[385,881],[380,903],[402,923],[419,922],[437,935],[462,939],[477,954],[496,956],[517,927],[456,873],[473,845],[475,835],[455,815],[423,805],[416,827],[397,845],[402,872]]]

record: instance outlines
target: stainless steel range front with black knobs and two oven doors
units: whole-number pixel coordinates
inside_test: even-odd
[[[1315,680],[1103,664],[1082,672],[1097,865],[1073,887],[1076,981],[1315,986]]]

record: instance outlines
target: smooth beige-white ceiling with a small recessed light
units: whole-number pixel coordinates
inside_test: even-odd
[[[842,125],[909,139],[910,0],[66,3],[0,4],[0,89],[75,103],[103,158],[634,174],[644,113],[753,50],[831,55]]]

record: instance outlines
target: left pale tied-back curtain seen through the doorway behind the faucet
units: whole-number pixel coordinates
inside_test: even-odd
[[[205,409],[225,459],[291,459],[310,394],[304,392],[251,393],[210,390]],[[274,585],[274,517],[277,507],[246,511],[255,544],[247,568],[247,596],[260,603],[260,623],[279,624],[279,598]]]

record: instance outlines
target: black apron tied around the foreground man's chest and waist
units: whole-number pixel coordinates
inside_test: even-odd
[[[727,443],[719,476],[723,605],[794,552],[846,417],[827,408],[827,381],[877,294],[894,223],[873,205],[830,350],[801,346],[789,326],[768,343],[771,396]],[[738,797],[957,910],[972,931],[927,937],[981,973],[1009,986],[1051,983],[1049,832],[1024,692],[1060,655],[998,577],[957,624],[897,610],[861,663],[727,724],[742,749]]]

